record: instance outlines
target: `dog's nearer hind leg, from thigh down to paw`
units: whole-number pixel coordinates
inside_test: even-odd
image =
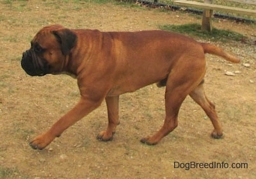
[[[191,93],[196,86],[198,86],[205,74],[204,63],[201,63],[200,65],[196,65],[196,63],[194,64],[195,65],[180,65],[179,69],[172,70],[166,82],[166,117],[164,120],[164,125],[153,136],[141,139],[141,143],[156,144],[177,127],[180,105],[188,94]]]

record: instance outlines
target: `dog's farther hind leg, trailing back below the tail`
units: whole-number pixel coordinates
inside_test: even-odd
[[[221,138],[222,128],[220,125],[220,121],[218,120],[218,116],[215,111],[215,106],[211,101],[205,96],[204,84],[200,83],[198,87],[196,87],[191,93],[189,93],[190,97],[195,100],[197,104],[199,104],[202,109],[204,109],[207,116],[211,119],[214,130],[211,136],[215,139]]]

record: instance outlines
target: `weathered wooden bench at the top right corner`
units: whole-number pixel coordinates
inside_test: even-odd
[[[233,1],[236,3],[241,4],[253,4],[256,5],[256,0],[227,0],[227,1]],[[206,31],[212,31],[212,11],[223,11],[223,12],[232,12],[237,14],[246,14],[250,16],[256,16],[256,10],[249,10],[245,8],[236,8],[231,6],[223,6],[218,4],[213,4],[212,0],[204,0],[204,3],[196,2],[196,1],[173,1],[175,5],[179,6],[189,6],[189,7],[195,7],[195,8],[203,8],[203,19],[202,19],[202,30]]]

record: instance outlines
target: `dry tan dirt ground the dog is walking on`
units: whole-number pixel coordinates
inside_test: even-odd
[[[62,24],[139,31],[192,22],[200,23],[200,15],[113,1],[0,1],[0,178],[256,178],[256,46],[241,42],[212,42],[235,52],[240,64],[207,55],[205,91],[216,104],[223,139],[210,137],[211,121],[188,97],[180,109],[179,126],[156,146],[141,144],[141,137],[163,125],[164,88],[154,84],[121,96],[121,123],[111,142],[96,139],[108,123],[103,103],[44,150],[28,145],[79,99],[71,77],[30,77],[20,67],[22,52],[40,28]],[[217,19],[214,27],[256,37],[255,24]],[[227,76],[227,71],[236,75]],[[188,162],[228,167],[188,169]],[[232,168],[233,163],[245,168]]]

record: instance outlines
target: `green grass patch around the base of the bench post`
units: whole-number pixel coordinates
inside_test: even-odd
[[[247,37],[236,33],[234,31],[222,30],[213,28],[212,32],[202,31],[201,26],[199,24],[184,24],[184,25],[164,25],[159,26],[160,29],[164,31],[172,31],[175,33],[182,33],[189,36],[196,36],[199,38],[204,38],[205,40],[213,40],[213,41],[241,41],[246,39]]]

